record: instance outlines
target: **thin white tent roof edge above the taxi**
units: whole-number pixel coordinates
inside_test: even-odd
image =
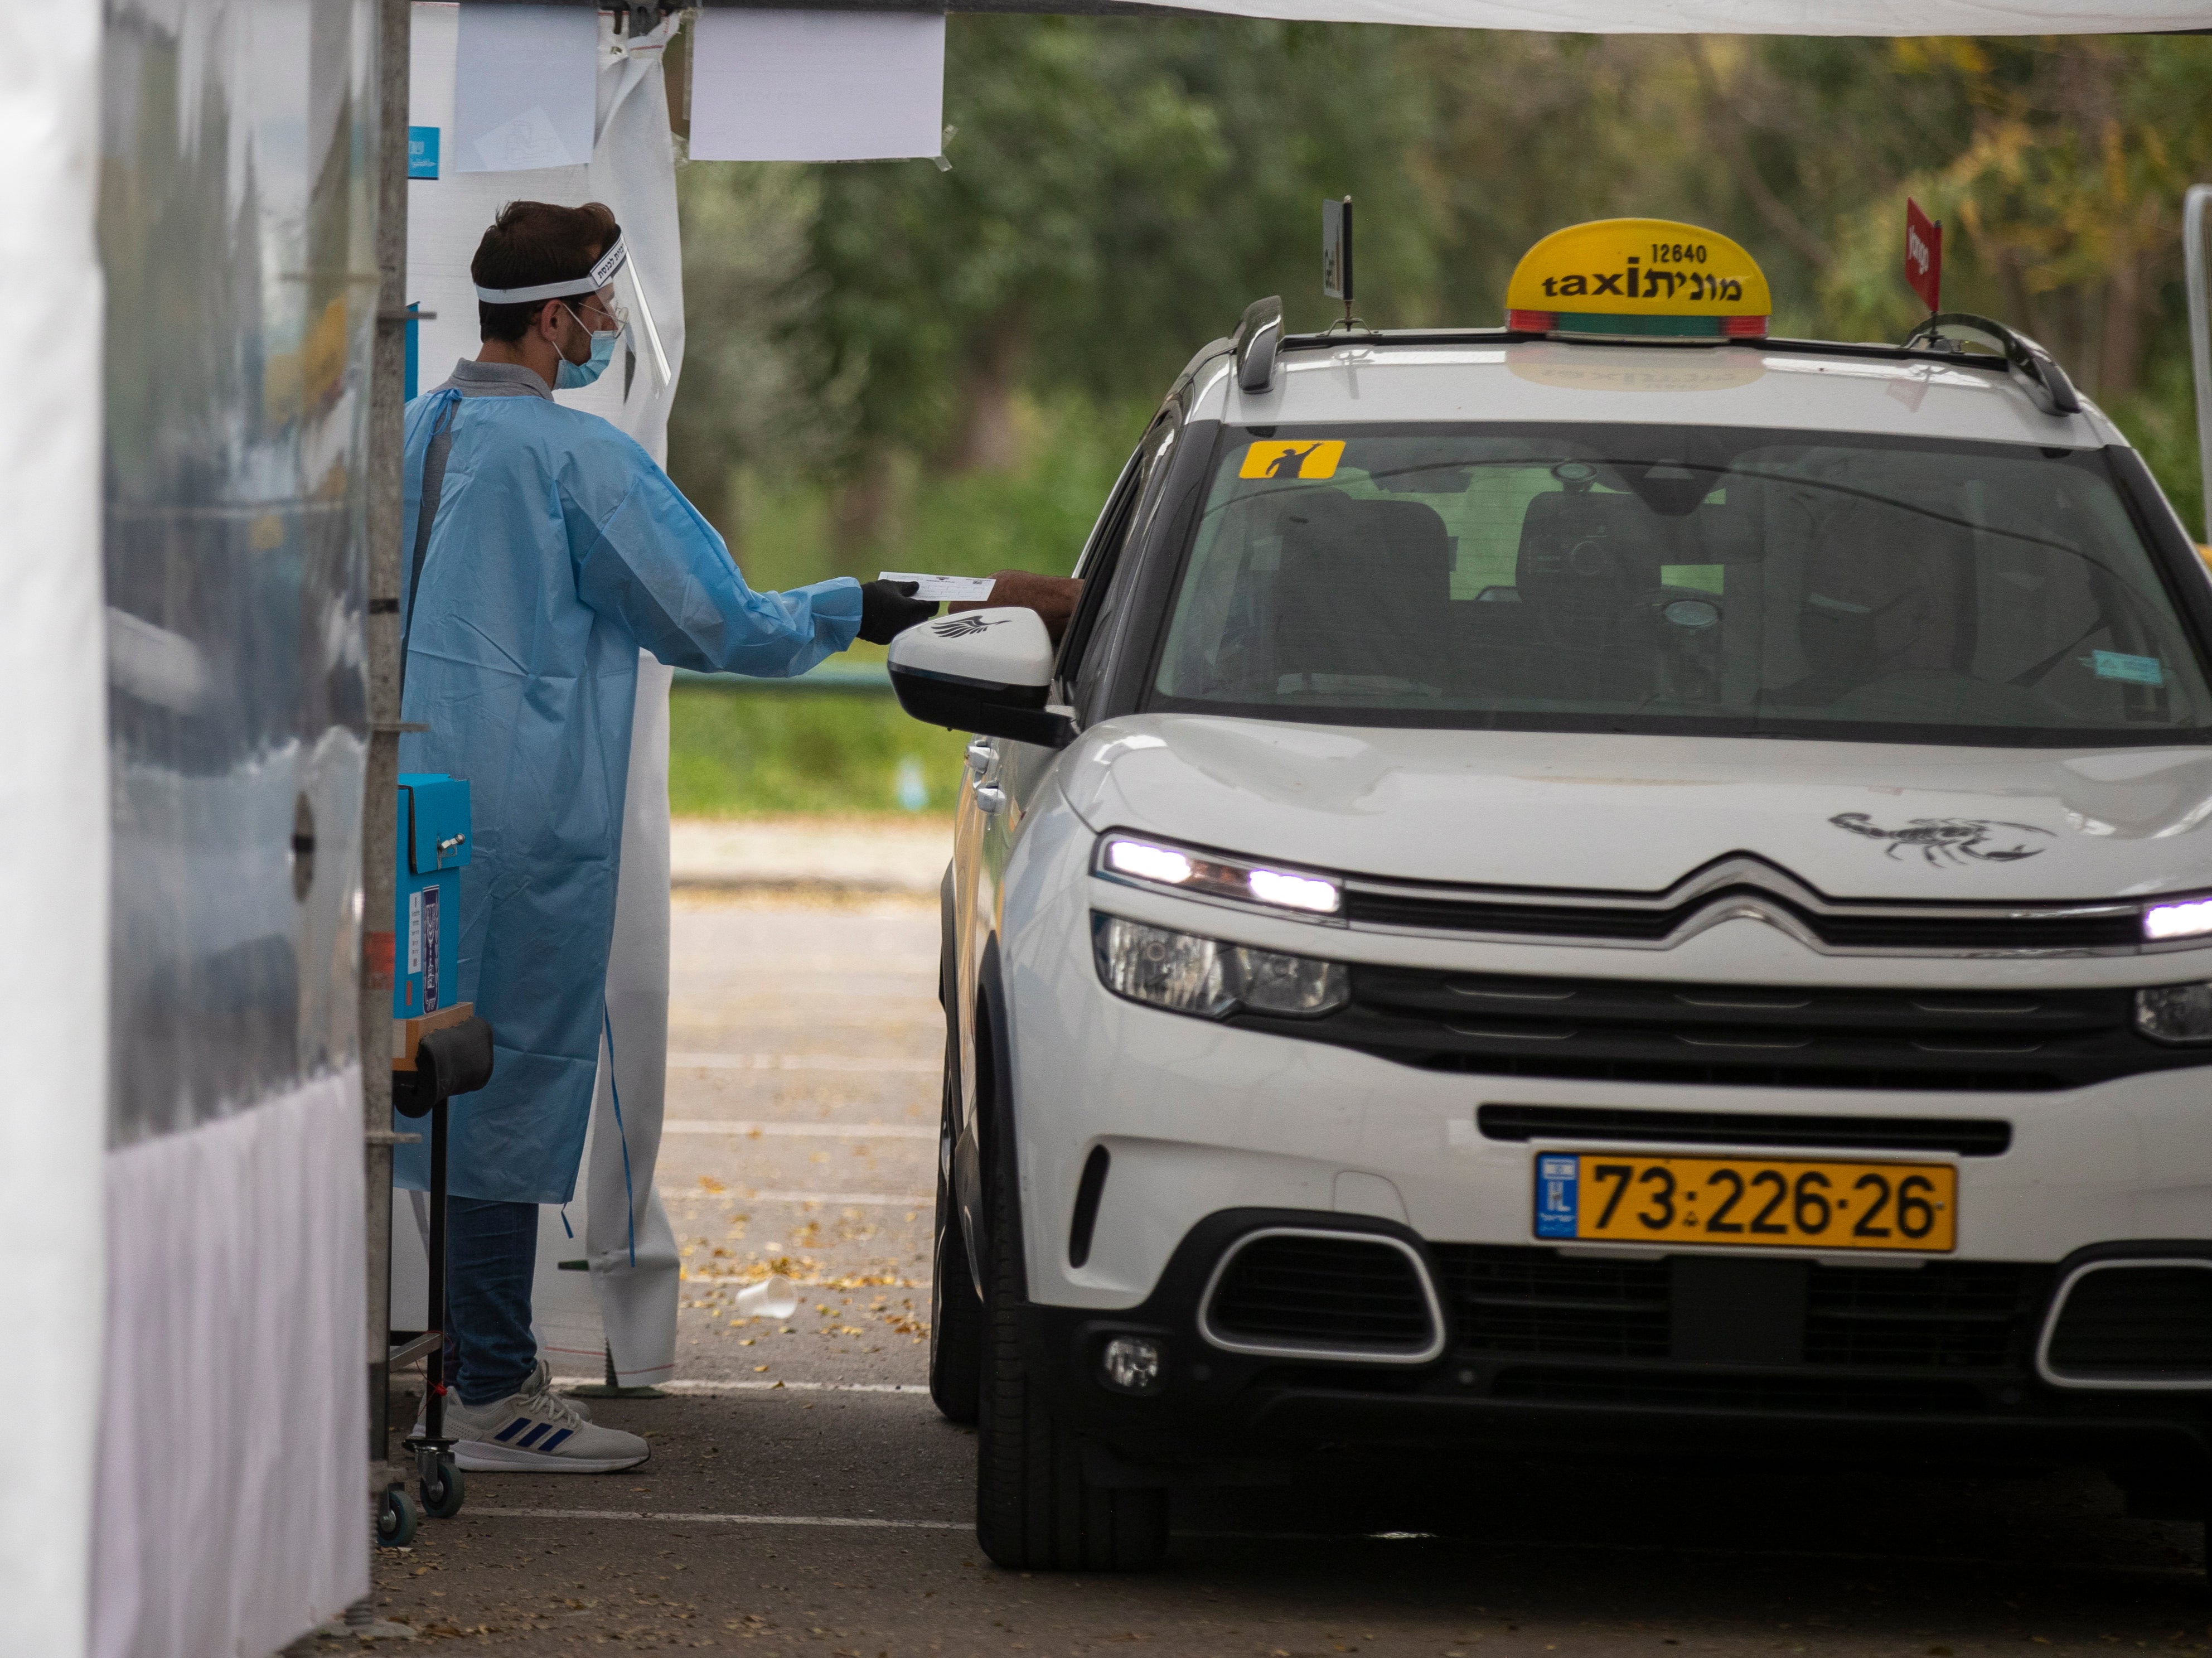
[[[2106,35],[2212,27],[2205,0],[1159,0],[1296,22],[1593,35]]]

